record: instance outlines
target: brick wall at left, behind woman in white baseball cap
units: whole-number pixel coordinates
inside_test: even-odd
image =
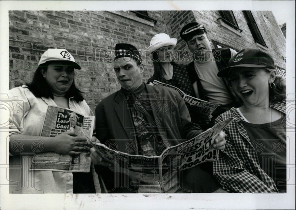
[[[116,43],[131,43],[144,51],[155,34],[167,33],[160,11],[148,11],[149,17],[157,19],[155,26],[136,16],[133,20],[127,12],[121,13],[9,11],[9,88],[32,80],[39,58],[48,48],[65,48],[81,65],[81,70],[75,70],[75,83],[94,110],[104,97],[120,88],[113,61],[104,59],[110,57],[104,51],[114,51]],[[147,81],[153,66],[148,62],[144,65]]]

